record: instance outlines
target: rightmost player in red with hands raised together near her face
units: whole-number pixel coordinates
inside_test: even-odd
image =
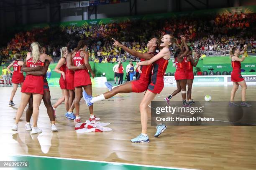
[[[236,95],[236,90],[238,89],[239,85],[242,87],[242,102],[241,106],[251,107],[250,104],[246,102],[246,89],[247,85],[245,80],[241,75],[241,62],[245,59],[245,55],[239,58],[239,55],[243,54],[247,50],[247,45],[244,45],[242,51],[239,51],[238,47],[230,48],[230,58],[231,58],[231,65],[233,71],[231,73],[231,81],[233,81],[233,88],[231,90],[230,102],[229,106],[238,106],[238,104],[234,103],[234,97]]]

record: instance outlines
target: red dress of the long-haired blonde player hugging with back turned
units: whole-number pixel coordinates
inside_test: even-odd
[[[27,60],[27,67],[44,66],[44,62],[38,60],[36,63],[33,62],[33,58]],[[21,92],[44,94],[44,76],[27,75]]]

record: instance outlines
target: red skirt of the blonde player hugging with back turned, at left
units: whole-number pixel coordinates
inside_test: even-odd
[[[27,75],[21,87],[21,92],[44,94],[44,77]]]

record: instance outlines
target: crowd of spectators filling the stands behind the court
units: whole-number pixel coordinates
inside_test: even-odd
[[[254,32],[256,31],[256,14],[222,14],[217,16],[200,16],[170,18],[169,20],[127,21],[90,25],[83,27],[54,27],[34,29],[17,33],[6,47],[0,49],[5,60],[11,60],[15,53],[24,57],[31,42],[38,41],[47,47],[48,54],[59,57],[60,49],[72,39],[88,40],[90,60],[95,62],[118,62],[125,60],[127,53],[120,47],[113,46],[114,37],[123,45],[138,52],[147,52],[147,41],[154,36],[173,34],[184,35],[188,45],[197,51],[224,51],[234,45],[248,45],[248,50],[256,48]],[[142,29],[143,28],[143,29]],[[120,55],[123,57],[120,58]],[[95,56],[102,56],[101,60]],[[132,58],[133,60],[134,58]]]

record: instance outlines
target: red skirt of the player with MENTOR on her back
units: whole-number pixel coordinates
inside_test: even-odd
[[[88,70],[77,70],[74,73],[74,87],[92,85]]]

